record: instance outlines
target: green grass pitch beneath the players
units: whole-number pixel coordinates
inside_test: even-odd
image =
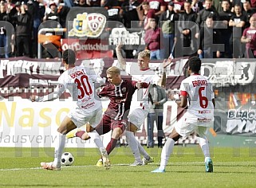
[[[40,162],[53,160],[53,148],[0,148],[0,187],[256,187],[254,148],[211,148],[214,173],[205,173],[203,155],[196,146],[175,146],[166,173],[154,174],[161,149],[147,149],[155,163],[133,163],[127,147],[115,148],[110,170],[95,166],[96,149],[66,148],[75,157],[73,166],[60,171],[42,170]]]

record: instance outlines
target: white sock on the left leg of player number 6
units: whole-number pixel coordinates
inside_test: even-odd
[[[161,162],[160,162],[160,170],[164,170],[165,166],[167,166],[168,159],[172,153],[175,141],[171,138],[167,138],[166,143],[163,146],[163,150],[161,153]]]

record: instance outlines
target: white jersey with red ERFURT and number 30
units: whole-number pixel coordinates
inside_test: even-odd
[[[84,66],[76,66],[61,74],[58,79],[58,92],[69,90],[77,107],[93,111],[100,108],[101,101],[95,94],[94,83],[100,83],[102,78]]]

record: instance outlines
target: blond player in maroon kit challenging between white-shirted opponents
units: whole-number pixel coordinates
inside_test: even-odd
[[[110,102],[104,116],[96,127],[89,124],[86,126],[86,131],[91,132],[96,130],[99,135],[104,135],[112,130],[111,140],[106,148],[108,155],[116,147],[116,142],[123,134],[127,127],[127,116],[130,109],[132,94],[138,88],[148,88],[148,84],[140,83],[132,80],[122,80],[120,69],[112,66],[107,69],[107,79],[109,84],[106,85],[98,94],[101,97],[108,97]],[[70,131],[67,138],[80,137],[81,139],[90,139],[88,133],[81,130]],[[144,155],[144,158],[150,161],[149,155]],[[97,163],[97,166],[102,166],[102,159]]]

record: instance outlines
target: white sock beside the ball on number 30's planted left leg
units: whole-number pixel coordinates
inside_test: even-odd
[[[58,137],[58,139],[57,139],[57,143],[55,146],[53,164],[56,165],[57,167],[59,167],[59,166],[61,166],[61,155],[62,155],[64,147],[65,147],[65,135],[58,133],[57,137]]]

